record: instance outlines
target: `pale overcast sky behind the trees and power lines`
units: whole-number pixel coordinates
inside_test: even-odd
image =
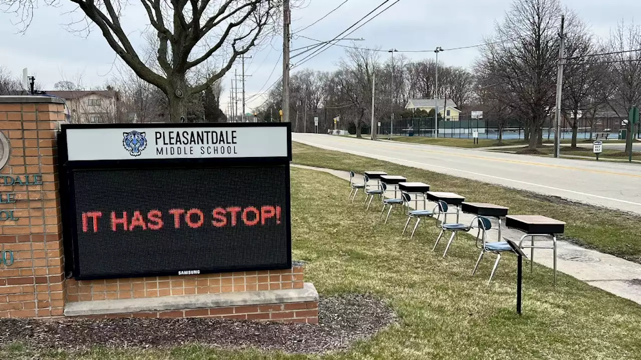
[[[69,3],[61,0],[63,4]],[[306,0],[303,8],[292,10],[292,29],[304,28],[328,13],[344,0]],[[331,40],[356,20],[373,10],[380,1],[349,0],[340,9],[326,19],[305,29],[299,35],[319,40]],[[476,45],[482,42],[485,35],[490,35],[494,22],[503,18],[510,0],[401,0],[376,19],[358,29],[350,37],[364,38],[358,42],[363,47],[395,48],[403,50],[434,49]],[[632,22],[633,14],[641,13],[641,1],[638,0],[562,0],[562,3],[578,12],[581,19],[592,27],[592,31],[601,37],[607,37],[611,28],[618,21]],[[35,10],[35,17],[26,33],[18,33],[19,25],[14,25],[16,18],[11,14],[0,13],[0,66],[16,76],[22,68],[28,67],[29,73],[37,77],[38,83],[51,89],[60,79],[76,79],[79,75],[83,84],[88,87],[101,86],[114,76],[112,63],[115,54],[106,44],[98,31],[88,37],[69,33],[64,24],[69,23],[72,8],[69,5],[60,8],[42,6]],[[123,17],[129,29],[142,29],[148,23],[146,15],[137,10],[128,12]],[[140,33],[133,31],[129,35],[133,42],[142,43]],[[292,49],[310,45],[313,42],[294,35]],[[282,38],[276,37],[271,44],[262,44],[251,53],[253,59],[247,60],[246,90],[247,97],[269,87],[282,73],[279,55]],[[330,70],[344,53],[341,47],[331,47],[324,53],[303,65],[315,70]],[[382,57],[389,56],[381,53]],[[439,61],[447,65],[468,67],[477,56],[476,49],[446,51],[439,55]],[[412,59],[434,56],[434,53],[408,53]],[[296,61],[293,61],[296,63]],[[238,68],[240,70],[240,67]],[[270,74],[273,74],[271,78]],[[233,71],[233,69],[232,69]],[[226,91],[221,101],[222,110],[226,110],[230,77],[223,85]],[[247,111],[262,103],[262,97],[247,103]]]

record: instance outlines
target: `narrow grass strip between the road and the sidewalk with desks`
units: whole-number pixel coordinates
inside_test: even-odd
[[[508,206],[512,214],[545,215],[567,222],[565,237],[581,246],[606,252],[641,263],[641,238],[638,224],[641,217],[629,213],[604,210],[594,206],[569,202],[556,197],[505,188],[503,186],[429,172],[387,161],[365,158],[344,152],[329,151],[294,143],[294,162],[302,165],[337,170],[384,170],[403,175],[409,181],[430,184],[435,191],[465,195],[467,201],[494,202]]]

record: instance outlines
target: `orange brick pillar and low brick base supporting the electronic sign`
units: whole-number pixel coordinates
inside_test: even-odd
[[[0,96],[0,318],[55,318],[72,303],[303,289],[303,266],[290,270],[76,281],[64,274],[56,133],[63,101]],[[8,154],[8,156],[7,156]],[[5,161],[3,161],[6,160]],[[312,301],[137,311],[90,317],[221,317],[318,322]]]

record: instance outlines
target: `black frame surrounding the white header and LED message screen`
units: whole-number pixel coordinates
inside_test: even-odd
[[[195,128],[195,127],[285,127],[287,130],[287,156],[264,158],[192,158],[192,159],[153,159],[153,160],[96,160],[69,161],[67,154],[67,130],[69,129],[146,129],[146,128]],[[292,218],[291,218],[291,189],[289,165],[292,161],[292,124],[290,122],[258,122],[258,123],[148,123],[148,124],[62,124],[58,133],[58,177],[60,181],[60,208],[62,211],[63,250],[65,256],[65,274],[76,280],[116,279],[128,277],[154,277],[178,275],[178,271],[158,271],[136,274],[83,275],[80,273],[78,224],[76,217],[75,186],[73,183],[74,170],[123,170],[131,168],[158,170],[191,168],[204,169],[216,167],[252,167],[252,166],[285,166],[287,179],[285,186],[285,217],[283,217],[287,234],[287,263],[278,266],[249,266],[244,268],[201,268],[199,274],[221,272],[242,272],[258,270],[283,270],[292,267]],[[191,270],[191,269],[185,269]]]

